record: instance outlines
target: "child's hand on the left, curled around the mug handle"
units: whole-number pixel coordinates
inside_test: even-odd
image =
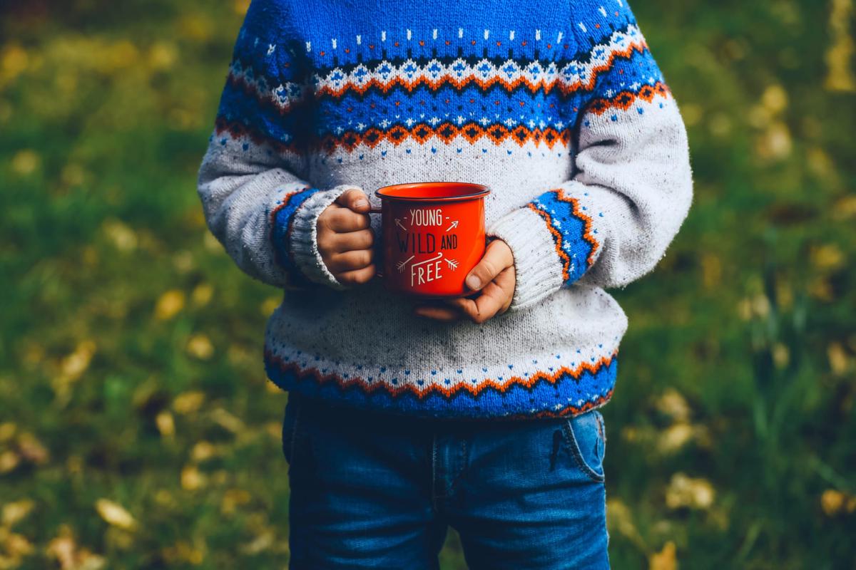
[[[344,192],[318,216],[318,252],[342,284],[359,285],[374,277],[369,208],[366,193],[354,189]]]

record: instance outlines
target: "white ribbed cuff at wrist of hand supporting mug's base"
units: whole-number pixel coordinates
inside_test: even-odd
[[[528,208],[516,209],[487,228],[487,235],[502,239],[514,254],[517,280],[509,311],[538,303],[562,287],[562,261],[541,217]]]

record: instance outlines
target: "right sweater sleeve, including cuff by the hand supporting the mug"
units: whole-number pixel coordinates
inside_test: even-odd
[[[586,32],[614,32],[560,72],[562,90],[576,95],[567,104],[579,105],[572,177],[488,227],[514,253],[509,310],[650,272],[693,198],[686,128],[627,0],[614,14],[584,4],[585,21],[573,22],[580,45],[595,44]]]

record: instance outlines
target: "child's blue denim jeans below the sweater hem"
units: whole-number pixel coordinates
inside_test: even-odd
[[[453,526],[473,570],[609,568],[603,416],[448,420],[289,392],[291,570],[438,568]]]

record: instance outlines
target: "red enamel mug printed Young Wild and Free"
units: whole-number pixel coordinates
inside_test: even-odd
[[[377,189],[383,285],[416,297],[461,297],[484,256],[484,197],[467,182],[414,182]]]

